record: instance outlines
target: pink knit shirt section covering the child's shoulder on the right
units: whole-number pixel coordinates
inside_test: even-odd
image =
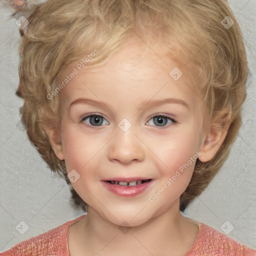
[[[199,231],[186,256],[256,256],[256,250],[233,240],[211,226],[197,223]]]

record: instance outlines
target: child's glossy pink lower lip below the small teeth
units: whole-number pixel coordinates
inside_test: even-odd
[[[101,182],[103,183],[104,187],[106,187],[106,189],[108,189],[114,194],[125,196],[125,197],[132,197],[144,192],[149,186],[152,185],[154,180],[151,179],[148,182],[135,185],[135,186],[121,186],[117,184],[111,184],[108,181],[101,181]]]

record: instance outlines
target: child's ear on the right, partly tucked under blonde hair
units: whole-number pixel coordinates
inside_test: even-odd
[[[209,161],[214,157],[226,137],[229,125],[230,114],[227,110],[222,110],[207,128],[200,148],[201,154],[198,156],[201,162]]]

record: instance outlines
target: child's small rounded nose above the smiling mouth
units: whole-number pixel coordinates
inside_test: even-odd
[[[136,133],[132,128],[123,131],[117,127],[117,132],[109,143],[108,157],[110,161],[119,161],[123,164],[143,161],[145,145]]]

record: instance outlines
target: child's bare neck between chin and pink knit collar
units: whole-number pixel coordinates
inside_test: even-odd
[[[113,224],[88,207],[87,216],[80,225],[81,232],[83,244],[86,241],[89,246],[86,251],[89,249],[94,254],[120,255],[126,252],[125,255],[134,255],[139,252],[139,255],[159,255],[166,254],[167,250],[177,252],[173,255],[182,255],[195,239],[197,225],[179,212],[178,200],[164,214],[132,227]]]

